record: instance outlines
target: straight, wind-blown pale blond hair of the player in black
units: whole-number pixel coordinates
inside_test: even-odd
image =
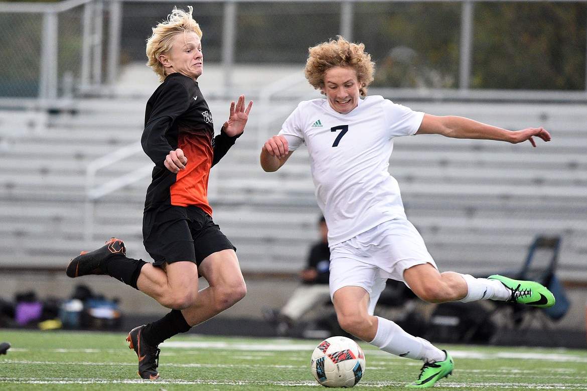
[[[192,18],[192,12],[192,6],[188,6],[187,12],[183,11],[183,9],[173,7],[171,14],[167,15],[167,20],[158,23],[153,28],[153,35],[147,39],[147,58],[149,59],[147,66],[150,66],[159,75],[160,82],[163,82],[167,75],[165,67],[159,61],[159,56],[171,50],[173,38],[177,34],[185,34],[187,32],[194,32],[202,38],[202,30],[200,29],[200,25]]]

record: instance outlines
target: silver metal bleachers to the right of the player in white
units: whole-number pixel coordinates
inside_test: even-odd
[[[413,107],[417,109],[417,107]],[[441,269],[483,275],[518,267],[535,235],[562,235],[559,274],[587,277],[585,105],[427,105],[507,129],[544,126],[552,141],[505,144],[441,136],[397,139],[390,171]]]

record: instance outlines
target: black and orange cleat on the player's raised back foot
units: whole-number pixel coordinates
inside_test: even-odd
[[[65,273],[71,278],[89,274],[106,274],[106,271],[102,268],[103,262],[114,254],[126,255],[124,242],[117,238],[111,238],[106,241],[106,245],[98,250],[82,251],[80,255],[69,262]]]

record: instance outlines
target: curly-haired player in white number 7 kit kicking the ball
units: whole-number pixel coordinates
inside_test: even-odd
[[[425,301],[483,299],[548,307],[555,299],[532,281],[500,275],[440,273],[404,213],[387,168],[394,137],[442,134],[456,139],[521,143],[549,141],[539,127],[510,130],[456,116],[414,112],[381,96],[366,96],[374,63],[363,44],[338,37],[309,49],[305,75],[326,99],[299,103],[261,150],[261,166],[276,171],[302,144],[308,147],[316,198],[328,225],[330,296],[340,326],[384,352],[423,360],[407,387],[431,387],[453,370],[453,359],[430,342],[373,316],[387,278],[403,281]],[[365,97],[361,99],[361,97]]]

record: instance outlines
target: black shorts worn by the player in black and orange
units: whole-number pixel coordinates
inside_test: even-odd
[[[153,265],[191,261],[198,266],[214,252],[237,248],[198,207],[160,205],[143,214],[143,244]]]

